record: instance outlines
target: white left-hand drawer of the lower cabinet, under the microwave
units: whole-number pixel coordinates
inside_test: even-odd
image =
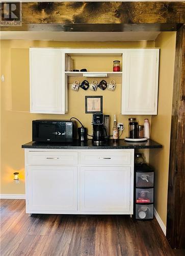
[[[78,153],[29,151],[27,152],[26,163],[29,165],[76,165],[78,164]]]

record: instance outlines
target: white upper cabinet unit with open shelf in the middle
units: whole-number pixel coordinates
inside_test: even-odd
[[[72,57],[75,68],[79,68],[83,61],[87,63],[88,72],[65,71],[66,56]],[[107,58],[108,65],[104,66]],[[98,59],[104,62],[101,69],[96,70]],[[121,62],[120,72],[113,72],[115,59]],[[158,59],[159,49],[31,48],[31,113],[65,114],[70,77],[80,81],[85,78],[89,82],[93,79],[100,81],[102,77],[109,82],[111,77],[118,83],[122,79],[121,114],[156,115]]]

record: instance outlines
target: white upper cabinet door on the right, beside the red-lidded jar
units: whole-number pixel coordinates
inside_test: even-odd
[[[156,115],[159,49],[123,52],[122,114]]]

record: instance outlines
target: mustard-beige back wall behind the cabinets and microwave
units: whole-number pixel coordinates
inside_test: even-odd
[[[2,163],[1,163],[1,194],[24,194],[24,152],[21,144],[32,140],[32,120],[79,118],[92,134],[91,115],[85,114],[85,95],[103,95],[103,113],[117,114],[118,121],[125,124],[123,137],[127,135],[128,116],[120,114],[121,85],[114,92],[105,90],[91,92],[80,90],[77,93],[69,90],[69,113],[66,115],[45,115],[29,113],[29,48],[30,47],[100,47],[100,48],[131,48],[154,47],[153,41],[140,42],[59,42],[59,41],[1,41],[1,75],[5,82],[1,84],[2,95]],[[111,60],[112,61],[112,60]],[[96,62],[98,69],[100,62]],[[119,80],[118,80],[119,83]],[[137,116],[140,123],[150,116]],[[13,182],[13,172],[20,173],[20,184]]]

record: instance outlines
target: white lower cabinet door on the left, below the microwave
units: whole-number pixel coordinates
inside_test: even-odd
[[[27,166],[27,212],[77,210],[76,166]]]

